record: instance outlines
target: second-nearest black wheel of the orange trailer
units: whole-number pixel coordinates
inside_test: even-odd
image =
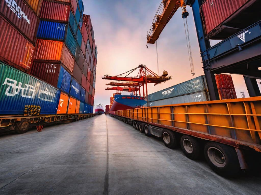
[[[198,140],[189,135],[183,135],[180,140],[180,146],[186,157],[195,160],[200,156],[200,144]]]

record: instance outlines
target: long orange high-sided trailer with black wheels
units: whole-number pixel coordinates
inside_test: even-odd
[[[203,150],[210,167],[223,176],[247,169],[247,154],[261,154],[261,97],[143,107],[110,115],[147,136],[162,137],[169,148],[180,144],[190,159],[199,158]]]

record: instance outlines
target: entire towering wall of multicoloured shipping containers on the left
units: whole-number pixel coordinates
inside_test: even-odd
[[[82,1],[0,4],[0,114],[22,114],[26,105],[40,114],[93,113],[97,47]]]

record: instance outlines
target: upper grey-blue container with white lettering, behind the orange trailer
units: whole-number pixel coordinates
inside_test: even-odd
[[[148,101],[161,100],[169,97],[176,97],[201,91],[207,91],[207,85],[205,83],[204,76],[199,76],[172,87],[149,94]]]

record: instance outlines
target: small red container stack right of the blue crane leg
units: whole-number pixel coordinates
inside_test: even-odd
[[[236,90],[234,87],[232,76],[228,74],[218,74],[215,77],[220,99],[235,99]]]

